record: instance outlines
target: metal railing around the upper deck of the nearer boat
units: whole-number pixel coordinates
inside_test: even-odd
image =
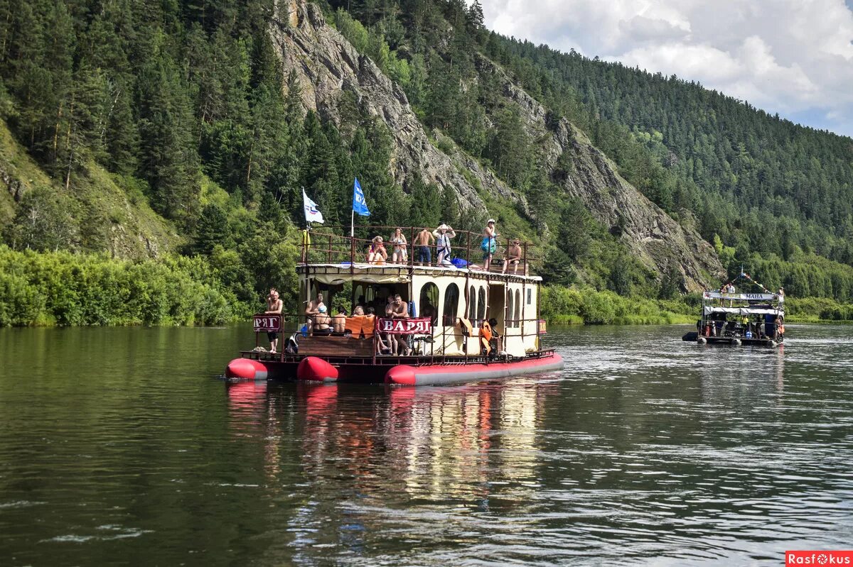
[[[383,238],[383,245],[387,252],[387,260],[373,261],[374,265],[385,266],[437,266],[438,254],[436,253],[436,245],[429,245],[430,262],[420,262],[420,245],[415,245],[413,242],[419,232],[424,227],[421,226],[360,226],[359,231],[368,231],[368,234],[374,235],[370,238],[350,237],[346,235],[349,231],[349,226],[322,226],[314,227],[308,232],[303,232],[301,263],[302,264],[344,264],[353,266],[354,264],[362,264],[368,262],[368,249],[373,243],[373,238],[380,236]],[[394,244],[391,242],[393,234],[397,228],[402,228],[403,237],[406,238],[404,249],[406,252],[405,259],[397,259],[393,261]],[[432,232],[431,229],[427,229]],[[477,266],[488,272],[501,272],[504,259],[508,257],[508,250],[515,238],[506,238],[498,235],[495,238],[496,250],[491,255],[492,261],[490,266],[485,266],[485,253],[481,249],[481,243],[485,238],[482,234],[470,231],[455,231],[456,236],[450,239],[451,258],[465,261],[465,266]],[[520,240],[520,239],[519,239]],[[537,257],[536,245],[529,242],[519,242],[521,255],[519,258],[518,267],[514,264],[507,264],[508,273],[516,273],[518,275],[531,275],[534,272],[534,266],[541,266],[542,259]]]

